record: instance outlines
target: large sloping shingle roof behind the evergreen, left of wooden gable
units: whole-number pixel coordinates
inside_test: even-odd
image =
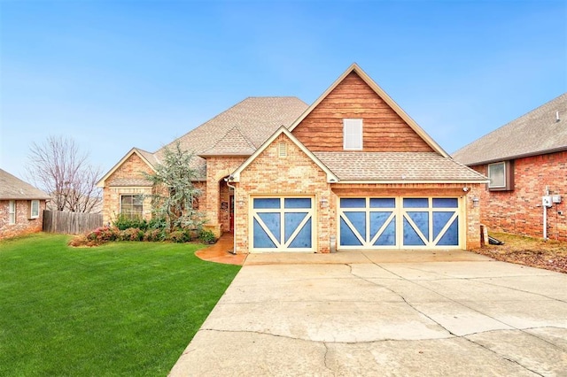
[[[235,104],[229,110],[221,112],[194,128],[187,134],[170,142],[165,147],[157,150],[154,157],[159,160],[165,148],[174,148],[176,142],[180,142],[183,150],[191,150],[195,153],[192,160],[193,168],[201,172],[199,179],[205,179],[206,160],[198,157],[203,152],[229,154],[229,140],[234,135],[229,132],[237,127],[237,132],[249,143],[250,148],[256,150],[260,145],[268,140],[268,137],[276,132],[280,126],[290,127],[293,120],[297,119],[302,112],[307,109],[307,104],[294,96],[266,96],[248,97],[242,102]],[[236,132],[235,132],[236,134]],[[219,136],[229,136],[224,142],[219,141]],[[220,150],[214,150],[219,143]],[[238,152],[243,152],[244,144],[237,143]],[[252,150],[252,153],[253,153]],[[248,151],[245,150],[247,153]],[[252,154],[250,153],[250,154]]]

